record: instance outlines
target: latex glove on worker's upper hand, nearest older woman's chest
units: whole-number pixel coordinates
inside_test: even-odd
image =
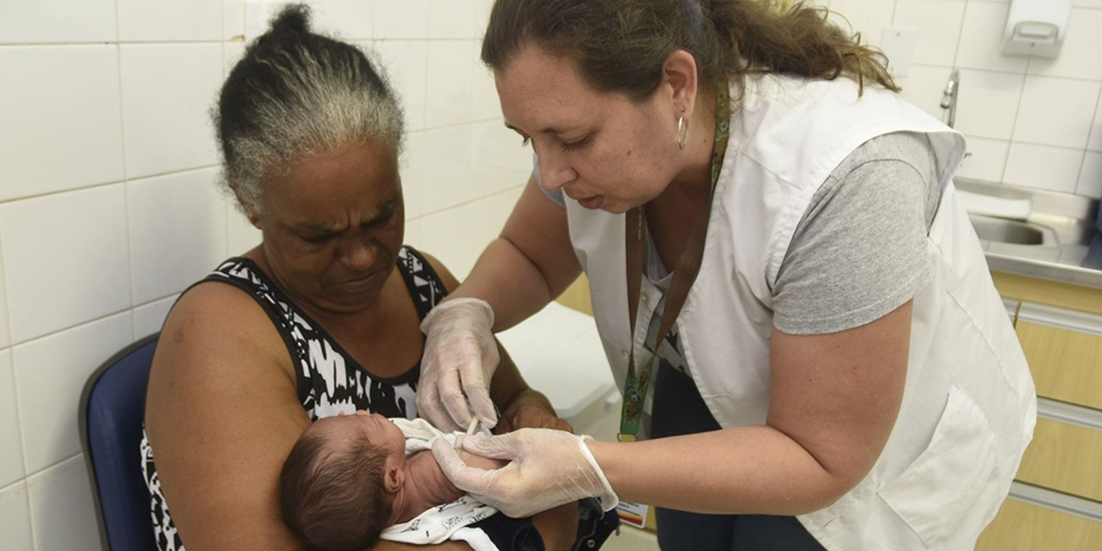
[[[437,429],[464,431],[473,417],[487,428],[497,424],[489,382],[500,357],[494,310],[479,299],[444,301],[421,322],[428,335],[417,389],[418,415]]]

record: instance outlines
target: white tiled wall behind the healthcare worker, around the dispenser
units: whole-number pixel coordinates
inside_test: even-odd
[[[1073,0],[1056,60],[1002,54],[1008,0],[818,0],[879,45],[888,25],[918,31],[904,96],[942,119],[938,106],[961,68],[957,128],[972,153],[960,174],[1102,195],[1102,1]]]

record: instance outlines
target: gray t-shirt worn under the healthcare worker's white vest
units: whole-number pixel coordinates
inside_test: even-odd
[[[538,183],[538,168],[536,174]],[[561,188],[544,193],[565,206]],[[940,197],[925,136],[895,132],[855,149],[815,192],[796,227],[773,288],[774,325],[797,335],[835,333],[878,320],[914,298],[930,277],[926,235]],[[647,277],[668,288],[668,271],[649,237],[644,262]],[[656,317],[661,304],[658,312]],[[650,325],[657,332],[653,320]],[[677,348],[676,335],[670,341]]]

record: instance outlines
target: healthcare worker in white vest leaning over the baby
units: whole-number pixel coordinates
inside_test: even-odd
[[[620,442],[464,441],[498,471],[437,445],[458,487],[514,516],[652,504],[662,549],[975,544],[1036,395],[953,188],[964,140],[883,56],[760,0],[498,0],[482,56],[536,168],[422,325],[418,410],[493,423],[491,332],[580,270],[625,406]]]

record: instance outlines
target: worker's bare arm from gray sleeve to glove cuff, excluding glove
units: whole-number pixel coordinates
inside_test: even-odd
[[[911,303],[828,335],[773,332],[765,425],[592,442],[625,499],[698,512],[800,515],[853,488],[879,457],[903,400]]]

